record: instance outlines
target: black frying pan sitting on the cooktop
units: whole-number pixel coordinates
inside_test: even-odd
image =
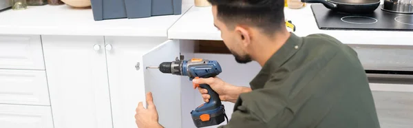
[[[366,14],[372,13],[380,6],[380,0],[301,0],[304,3],[323,3],[337,12]]]

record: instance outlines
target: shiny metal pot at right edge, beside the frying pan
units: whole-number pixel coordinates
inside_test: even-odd
[[[381,10],[413,14],[413,0],[385,0]]]

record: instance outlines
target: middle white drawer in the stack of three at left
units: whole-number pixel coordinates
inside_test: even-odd
[[[0,70],[0,103],[50,105],[45,71]]]

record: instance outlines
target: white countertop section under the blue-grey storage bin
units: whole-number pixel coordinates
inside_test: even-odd
[[[182,6],[182,14],[191,8]],[[92,9],[70,6],[29,6],[27,10],[0,12],[0,34],[52,34],[86,36],[167,36],[181,15],[94,21]]]

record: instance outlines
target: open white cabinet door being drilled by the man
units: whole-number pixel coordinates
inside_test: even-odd
[[[181,127],[181,78],[173,74],[162,74],[159,70],[149,70],[145,67],[159,65],[165,61],[175,61],[175,58],[179,56],[179,41],[169,40],[153,48],[142,58],[143,65],[140,70],[143,70],[145,77],[145,92],[152,92],[160,125],[164,127]],[[187,111],[188,114],[190,112]]]

